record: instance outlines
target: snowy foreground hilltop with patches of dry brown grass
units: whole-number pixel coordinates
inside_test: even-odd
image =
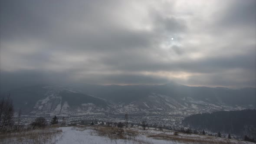
[[[227,138],[155,130],[76,126],[1,135],[1,144],[254,144]]]

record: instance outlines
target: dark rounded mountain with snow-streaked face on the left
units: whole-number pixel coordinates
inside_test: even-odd
[[[40,90],[40,93],[38,93]],[[23,98],[19,97],[19,93]],[[62,86],[37,86],[19,89],[12,95],[14,106],[18,105],[31,114],[96,114],[109,109],[109,102],[92,95],[76,92]],[[16,101],[19,99],[19,101]],[[28,104],[29,103],[29,104]],[[33,107],[31,107],[33,105]]]

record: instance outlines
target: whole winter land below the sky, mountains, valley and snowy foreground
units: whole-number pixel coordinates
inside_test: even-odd
[[[1,142],[7,144],[246,144],[248,142],[241,141],[245,135],[251,141],[254,141],[253,138],[256,136],[256,111],[253,107],[255,88],[189,87],[175,83],[154,86],[89,86],[90,89],[100,87],[102,89],[100,93],[112,97],[116,93],[113,87],[116,87],[119,93],[124,91],[124,95],[127,92],[134,92],[135,87],[143,88],[139,88],[133,94],[137,95],[136,98],[129,99],[125,95],[125,101],[115,101],[118,98],[113,98],[111,101],[96,97],[95,95],[100,95],[98,91],[95,93],[88,91],[94,95],[86,95],[78,89],[56,85],[15,89],[10,91],[12,104],[26,109],[22,109],[22,115],[14,113],[12,119],[14,124],[10,128],[6,127],[6,131],[9,129],[18,132],[3,133]],[[112,92],[104,92],[108,91],[109,87]],[[189,91],[190,97],[181,96],[187,96],[186,91]],[[207,92],[209,97],[205,96],[202,99],[194,95],[205,91],[209,91]],[[218,94],[217,97],[211,95],[211,92]],[[119,93],[118,97],[120,97]],[[244,93],[247,94],[246,99],[242,95]],[[22,99],[19,99],[20,95],[23,95]],[[236,95],[237,101],[229,101],[233,95]],[[7,105],[3,101],[8,103],[8,99],[1,99],[1,104]],[[225,117],[226,115],[228,116]],[[5,119],[5,115],[1,117]],[[19,132],[20,129],[22,132]]]

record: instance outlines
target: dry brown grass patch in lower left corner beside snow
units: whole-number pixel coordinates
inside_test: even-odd
[[[56,126],[40,128],[33,130],[24,130],[20,132],[0,134],[1,144],[54,144],[56,136],[61,134],[62,130]]]

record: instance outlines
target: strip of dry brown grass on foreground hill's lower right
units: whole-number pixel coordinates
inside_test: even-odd
[[[157,140],[168,140],[168,141],[178,141],[184,143],[194,143],[194,144],[242,144],[240,141],[229,140],[229,139],[219,139],[215,137],[206,136],[205,138],[201,137],[184,137],[171,134],[153,134],[148,137],[152,137]]]

